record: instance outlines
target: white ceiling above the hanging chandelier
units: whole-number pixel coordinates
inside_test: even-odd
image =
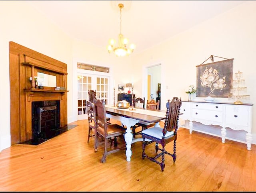
[[[106,47],[120,33],[139,53],[246,1],[232,0],[38,0],[23,1],[74,39]]]

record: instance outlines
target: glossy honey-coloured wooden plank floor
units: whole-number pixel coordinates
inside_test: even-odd
[[[111,122],[114,122],[111,120]],[[38,146],[14,145],[0,153],[0,191],[256,191],[256,146],[179,128],[177,159],[166,167],[142,160],[142,142],[100,163],[103,147],[87,143],[87,120]],[[172,143],[166,146],[172,150]],[[154,152],[154,144],[146,150]]]

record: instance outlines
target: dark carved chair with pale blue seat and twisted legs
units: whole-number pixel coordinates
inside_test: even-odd
[[[180,106],[181,106],[181,98],[180,100],[178,97],[173,97],[172,101],[168,100],[166,103],[166,117],[164,120],[164,128],[160,127],[152,127],[141,132],[143,142],[142,142],[142,159],[148,158],[150,161],[153,161],[161,166],[161,171],[164,171],[165,167],[165,158],[164,155],[168,154],[172,156],[172,159],[175,163],[176,161],[176,140],[177,140],[177,131],[178,131],[178,120],[179,120],[179,113],[180,113]],[[146,139],[151,140],[146,142]],[[173,153],[169,153],[165,146],[169,142],[173,141]],[[156,156],[150,157],[146,155],[145,149],[148,144],[155,142],[156,146]],[[158,144],[161,144],[162,148],[159,148]],[[160,150],[160,153],[158,153]],[[157,159],[160,158],[161,161]]]

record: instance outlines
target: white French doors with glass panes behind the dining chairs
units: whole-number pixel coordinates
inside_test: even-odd
[[[109,102],[109,77],[104,75],[77,74],[77,119],[87,119],[86,101],[89,100],[88,90],[96,91],[97,99]]]

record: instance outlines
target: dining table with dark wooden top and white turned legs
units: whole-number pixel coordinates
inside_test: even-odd
[[[159,126],[159,122],[165,119],[166,111],[164,110],[147,110],[142,108],[126,108],[120,109],[116,106],[106,104],[106,116],[119,120],[124,126],[126,126],[126,134],[124,134],[124,140],[126,142],[126,161],[131,160],[132,150],[131,144],[134,142],[142,141],[142,138],[133,138],[132,129],[139,121],[145,121],[149,123],[156,122],[155,126]]]

